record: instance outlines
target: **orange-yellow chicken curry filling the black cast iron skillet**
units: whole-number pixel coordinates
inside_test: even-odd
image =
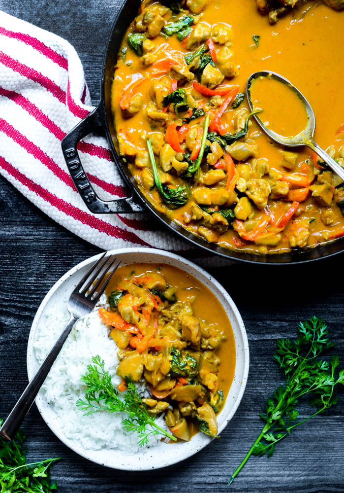
[[[244,94],[256,70],[292,80],[313,106],[316,141],[344,166],[341,8],[343,0],[141,4],[123,39],[112,109],[120,152],[157,210],[250,253],[344,235],[338,176],[308,149],[269,141]],[[267,103],[278,98],[271,87]],[[290,128],[296,117],[275,120]]]

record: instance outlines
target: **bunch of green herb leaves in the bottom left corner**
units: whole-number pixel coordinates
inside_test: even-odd
[[[0,425],[2,421],[0,420]],[[0,437],[0,491],[4,493],[49,493],[57,490],[50,484],[50,469],[56,459],[26,463],[23,443],[26,436],[19,430],[12,442]]]

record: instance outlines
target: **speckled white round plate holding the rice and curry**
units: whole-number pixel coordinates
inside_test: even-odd
[[[234,380],[229,390],[225,405],[217,416],[220,433],[232,419],[239,406],[244,394],[249,373],[249,343],[243,320],[232,298],[219,284],[219,282],[213,278],[213,276],[179,255],[174,255],[173,253],[167,251],[155,250],[152,248],[122,248],[112,250],[110,253],[116,254],[117,257],[121,259],[122,265],[147,262],[169,264],[179,267],[180,269],[192,274],[192,276],[205,284],[215,294],[224,307],[234,332],[236,366]],[[48,314],[54,313],[57,317],[65,317],[66,302],[69,294],[72,292],[80,279],[86,274],[91,264],[93,264],[100,255],[101,254],[95,255],[94,257],[84,260],[64,274],[64,276],[50,289],[38,308],[32,323],[28,342],[27,366],[29,380],[31,380],[34,372],[38,368],[38,361],[36,360],[33,351],[33,343],[35,341],[38,328],[41,324],[45,323],[45,319]],[[38,394],[35,402],[43,420],[65,445],[82,457],[114,469],[143,471],[165,467],[192,456],[212,441],[211,437],[204,435],[203,433],[198,433],[189,442],[177,444],[161,443],[161,445],[159,444],[156,447],[141,449],[134,455],[125,455],[120,450],[116,449],[85,450],[79,444],[71,441],[63,434],[61,430],[60,418],[49,406],[43,396]]]

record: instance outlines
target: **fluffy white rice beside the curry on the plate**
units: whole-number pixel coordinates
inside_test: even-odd
[[[105,295],[102,295],[100,302],[98,307],[106,307]],[[39,363],[58,339],[63,324],[68,319],[55,317],[54,320],[53,317],[53,315],[48,316],[44,324],[39,324],[33,343]],[[123,431],[122,420],[127,418],[125,413],[102,411],[84,416],[83,411],[75,405],[80,397],[84,398],[85,387],[81,383],[81,376],[87,372],[87,365],[92,362],[91,358],[96,354],[105,361],[105,369],[109,371],[114,386],[121,383],[121,379],[116,374],[119,364],[117,352],[116,343],[109,337],[108,326],[102,323],[97,310],[92,312],[75,323],[41,387],[40,395],[59,416],[61,431],[69,440],[87,450],[120,449],[131,455],[140,447],[136,433]],[[143,397],[151,397],[144,381],[140,381],[137,389]],[[156,424],[167,430],[162,416],[156,419]],[[151,435],[148,446],[160,444],[160,438],[161,436]]]

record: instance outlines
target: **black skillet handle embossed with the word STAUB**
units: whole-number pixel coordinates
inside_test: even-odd
[[[135,202],[133,196],[105,201],[95,193],[88,176],[81,164],[77,151],[77,143],[88,134],[102,127],[99,106],[79,122],[61,142],[63,157],[74,185],[91,212],[95,214],[145,212],[145,209]]]

